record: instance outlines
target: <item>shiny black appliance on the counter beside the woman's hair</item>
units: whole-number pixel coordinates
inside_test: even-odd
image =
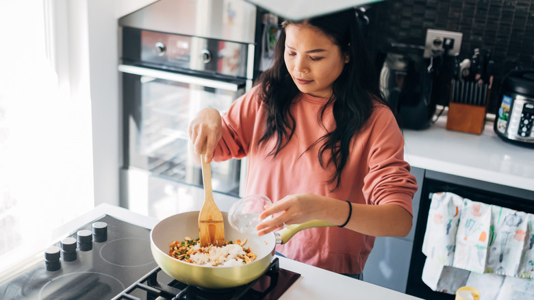
[[[383,58],[380,88],[401,128],[425,129],[435,113],[433,82],[441,57],[423,58],[423,53],[421,46],[392,44],[378,56]]]

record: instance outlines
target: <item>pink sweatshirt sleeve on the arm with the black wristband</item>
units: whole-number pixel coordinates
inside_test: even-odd
[[[411,200],[417,182],[404,160],[404,138],[392,112],[383,105],[375,108],[368,131],[368,174],[364,196],[372,204],[396,203],[413,214]]]

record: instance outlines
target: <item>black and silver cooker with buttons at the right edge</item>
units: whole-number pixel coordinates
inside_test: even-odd
[[[534,69],[513,70],[500,86],[494,130],[500,138],[534,147]]]

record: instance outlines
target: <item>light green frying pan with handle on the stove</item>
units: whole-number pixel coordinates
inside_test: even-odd
[[[186,236],[199,236],[199,212],[184,212],[169,216],[157,223],[150,233],[151,251],[155,262],[170,277],[179,282],[203,288],[233,288],[252,282],[267,271],[275,256],[275,245],[288,242],[294,234],[311,227],[334,226],[320,220],[294,224],[264,236],[242,234],[228,223],[228,213],[223,212],[225,240],[247,239],[243,247],[250,247],[256,254],[254,262],[241,266],[203,266],[177,260],[168,255],[170,243]]]

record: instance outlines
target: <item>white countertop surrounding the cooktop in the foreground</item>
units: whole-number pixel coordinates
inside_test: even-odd
[[[81,227],[94,219],[108,214],[129,223],[146,228],[153,228],[158,220],[142,214],[136,214],[124,208],[119,208],[109,204],[101,204],[90,210],[86,214],[79,216],[75,220],[62,225],[53,231],[55,239],[50,242],[61,240],[73,229]],[[42,256],[42,251],[34,255],[35,259]],[[366,300],[416,300],[417,297],[402,294],[395,290],[376,286],[368,282],[362,282],[351,277],[346,277],[338,273],[316,268],[308,264],[296,262],[288,258],[277,256],[280,260],[280,267],[301,274],[300,277],[284,292],[281,300],[284,299],[366,299]],[[9,271],[8,271],[9,272]],[[1,277],[1,276],[0,276]]]

